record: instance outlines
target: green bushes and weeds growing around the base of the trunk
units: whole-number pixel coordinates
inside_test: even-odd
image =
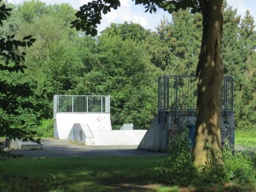
[[[170,141],[168,160],[156,168],[152,179],[177,186],[195,186],[196,191],[217,191],[224,189],[239,191],[239,186],[247,190],[256,189],[256,154],[235,152],[229,145],[223,148],[221,161],[211,163],[199,170],[192,163],[191,145],[188,133],[183,132]]]

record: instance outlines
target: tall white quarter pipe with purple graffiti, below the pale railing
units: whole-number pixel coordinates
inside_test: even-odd
[[[111,130],[109,113],[56,113],[54,137],[68,140],[68,134],[74,124],[88,124],[91,131]]]

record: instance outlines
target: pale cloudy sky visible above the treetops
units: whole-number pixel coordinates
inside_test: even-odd
[[[8,0],[12,3],[22,3],[25,0]],[[54,3],[68,3],[75,9],[79,9],[83,4],[88,3],[88,0],[40,0],[46,4]],[[121,7],[118,10],[112,10],[107,15],[102,16],[102,22],[98,27],[99,31],[109,26],[111,22],[123,23],[124,21],[132,21],[139,23],[146,29],[152,29],[156,31],[157,24],[163,19],[163,15],[166,18],[171,19],[171,15],[163,10],[157,10],[156,13],[145,13],[145,8],[142,5],[134,5],[131,0],[120,0]],[[237,14],[242,18],[246,10],[250,10],[251,15],[256,20],[256,1],[255,0],[227,0],[228,5],[237,9]]]

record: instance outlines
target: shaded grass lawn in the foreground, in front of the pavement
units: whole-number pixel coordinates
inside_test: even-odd
[[[167,159],[166,156],[6,159],[0,161],[0,191],[252,191],[247,186],[232,184],[177,186],[164,180],[159,172],[165,168]],[[188,183],[192,180],[189,178]]]

